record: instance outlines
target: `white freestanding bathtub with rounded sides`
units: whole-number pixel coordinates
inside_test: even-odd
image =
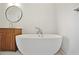
[[[62,36],[56,34],[22,34],[16,36],[18,50],[24,55],[53,55],[61,47]]]

